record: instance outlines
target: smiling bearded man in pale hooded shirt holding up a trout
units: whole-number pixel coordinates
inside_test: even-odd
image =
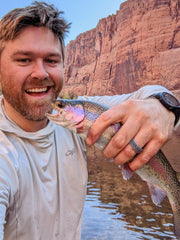
[[[42,2],[15,9],[0,22],[0,239],[80,239],[86,146],[45,116],[63,86],[68,27],[60,12]],[[113,107],[92,126],[87,143],[122,122],[104,153],[123,164],[140,149],[129,166],[141,167],[174,129],[174,113],[149,97],[164,91],[147,86],[132,94],[92,98]]]

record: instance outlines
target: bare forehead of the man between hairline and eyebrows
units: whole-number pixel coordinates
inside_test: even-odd
[[[4,50],[62,54],[62,46],[57,36],[48,28],[34,26],[26,27],[15,39],[7,41]]]

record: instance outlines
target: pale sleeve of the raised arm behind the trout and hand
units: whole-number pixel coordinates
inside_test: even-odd
[[[98,102],[101,104],[104,104],[106,106],[112,107],[114,105],[120,104],[128,99],[146,99],[152,94],[158,93],[158,92],[169,92],[171,93],[167,88],[160,86],[160,85],[147,85],[139,90],[128,93],[128,94],[121,94],[121,95],[114,95],[114,96],[82,96],[78,99],[86,99],[94,102]],[[171,93],[172,94],[172,93]]]

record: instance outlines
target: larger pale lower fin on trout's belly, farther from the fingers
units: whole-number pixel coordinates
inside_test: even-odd
[[[150,183],[147,184],[153,203],[157,206],[160,206],[161,202],[166,197],[166,193],[160,188],[157,188]]]

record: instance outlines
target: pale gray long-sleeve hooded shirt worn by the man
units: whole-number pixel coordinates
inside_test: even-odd
[[[149,86],[133,94],[93,97],[115,105],[167,91]],[[86,195],[85,142],[49,122],[25,132],[0,99],[0,240],[79,240]]]

